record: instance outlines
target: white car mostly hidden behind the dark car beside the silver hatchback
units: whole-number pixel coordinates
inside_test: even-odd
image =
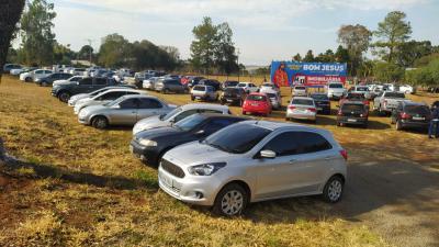
[[[230,110],[228,109],[228,106],[221,104],[184,104],[176,108],[176,110],[169,112],[166,115],[155,115],[140,120],[136,123],[136,125],[134,125],[133,135],[150,128],[170,126],[196,113],[230,114]]]

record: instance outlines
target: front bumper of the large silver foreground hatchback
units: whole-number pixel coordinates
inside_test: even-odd
[[[217,189],[222,188],[222,184],[210,176],[189,178],[187,175],[180,179],[161,167],[158,168],[158,184],[162,191],[177,200],[204,206],[214,204]],[[202,194],[202,198],[196,193]]]

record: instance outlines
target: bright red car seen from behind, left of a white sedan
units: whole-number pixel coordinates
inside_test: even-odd
[[[271,113],[271,102],[266,93],[252,92],[247,96],[243,104],[243,114],[262,114],[264,116]]]

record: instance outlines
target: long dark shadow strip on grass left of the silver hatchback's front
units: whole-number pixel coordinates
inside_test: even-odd
[[[111,188],[120,190],[149,189],[158,190],[157,179],[151,178],[146,172],[138,171],[136,178],[126,178],[122,176],[99,176],[88,172],[70,171],[50,165],[42,165],[24,161],[9,161],[2,165],[4,171],[10,175],[19,175],[31,179],[54,178],[61,179],[71,183],[89,184],[99,188]],[[22,175],[21,170],[32,169],[33,172]]]

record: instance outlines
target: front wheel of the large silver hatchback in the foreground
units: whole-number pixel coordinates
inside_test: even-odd
[[[229,183],[216,195],[213,212],[227,217],[238,216],[246,209],[247,202],[247,191],[237,183]]]

